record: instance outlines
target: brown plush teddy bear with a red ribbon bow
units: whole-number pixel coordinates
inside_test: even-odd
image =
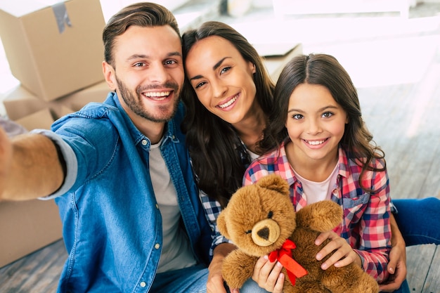
[[[330,241],[315,245],[316,237],[342,219],[342,208],[330,200],[295,212],[289,185],[276,174],[239,188],[217,218],[220,233],[238,247],[224,259],[224,280],[230,288],[242,287],[259,257],[268,255],[283,264],[285,293],[379,292],[376,280],[355,263],[323,270],[321,264],[330,255],[316,260]]]

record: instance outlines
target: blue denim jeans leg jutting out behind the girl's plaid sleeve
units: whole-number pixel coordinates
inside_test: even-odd
[[[440,245],[440,200],[436,197],[423,199],[392,200],[397,226],[406,246]]]

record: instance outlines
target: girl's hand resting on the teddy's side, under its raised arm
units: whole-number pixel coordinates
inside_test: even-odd
[[[361,266],[361,257],[351,249],[350,245],[347,243],[347,240],[340,237],[333,231],[323,232],[318,237],[316,237],[315,244],[321,245],[326,239],[330,239],[323,249],[321,249],[318,254],[316,254],[316,259],[321,261],[325,256],[334,252],[332,256],[330,256],[326,261],[323,262],[321,268],[326,270],[330,268],[330,266],[342,267],[347,266],[350,263],[357,263],[358,266]]]

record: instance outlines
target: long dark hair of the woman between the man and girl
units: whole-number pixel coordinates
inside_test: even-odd
[[[197,30],[185,32],[182,36],[184,60],[194,44],[210,36],[230,41],[242,58],[255,65],[255,98],[265,112],[270,112],[274,84],[255,48],[229,25],[209,21]],[[186,133],[193,168],[198,176],[198,186],[224,207],[235,190],[242,185],[242,176],[246,169],[244,159],[247,157],[245,148],[233,126],[209,112],[200,103],[187,78],[182,89],[182,100],[186,105],[182,129]]]

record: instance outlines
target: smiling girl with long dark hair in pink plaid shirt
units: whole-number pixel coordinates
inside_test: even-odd
[[[384,152],[365,127],[349,74],[332,56],[298,56],[280,74],[274,101],[260,143],[270,151],[250,165],[244,184],[276,173],[290,184],[297,210],[321,200],[340,204],[341,225],[317,239],[331,240],[317,259],[337,250],[323,269],[354,262],[386,280],[391,214]]]

